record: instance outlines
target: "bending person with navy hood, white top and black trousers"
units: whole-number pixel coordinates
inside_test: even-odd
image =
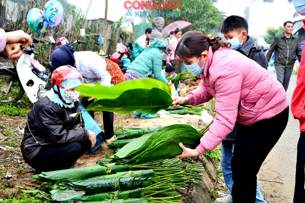
[[[111,86],[124,81],[123,73],[117,64],[103,58],[92,51],[75,51],[69,44],[65,44],[55,50],[51,57],[52,68],[55,69],[62,65],[71,65],[77,68],[82,74],[84,82],[103,86]],[[94,102],[91,99],[82,99],[84,107],[88,107]],[[88,111],[94,119],[94,111]],[[113,112],[103,111],[103,124],[106,139],[114,135],[113,131]]]

